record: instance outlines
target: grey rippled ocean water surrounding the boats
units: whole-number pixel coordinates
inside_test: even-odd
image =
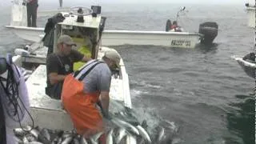
[[[58,6],[40,4],[39,9]],[[5,55],[26,42],[3,27],[10,21],[10,7],[0,6],[0,53]],[[107,17],[106,30],[165,30],[166,20],[174,19],[180,7],[105,3],[102,15]],[[134,111],[152,130],[154,126],[168,129],[166,122],[173,122],[178,127],[173,136],[178,143],[254,143],[255,82],[230,58],[254,51],[254,30],[246,26],[245,7],[194,4],[186,10],[178,23],[187,31],[198,32],[202,22],[218,23],[213,46],[193,50],[114,47],[129,74]],[[38,26],[44,26],[46,19],[38,18]]]

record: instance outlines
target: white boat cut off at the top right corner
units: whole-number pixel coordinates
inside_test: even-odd
[[[249,0],[248,3],[246,3],[246,13],[247,13],[247,18],[248,22],[247,25],[250,27],[255,28],[256,26],[256,5],[255,5],[255,0]]]

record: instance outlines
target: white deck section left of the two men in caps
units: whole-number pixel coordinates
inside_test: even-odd
[[[40,65],[34,70],[27,79],[26,86],[30,98],[30,114],[35,126],[55,130],[73,130],[70,117],[62,109],[61,101],[45,94],[46,65]]]

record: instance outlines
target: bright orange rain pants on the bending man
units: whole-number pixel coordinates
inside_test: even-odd
[[[103,130],[102,115],[96,108],[99,92],[85,93],[84,83],[72,74],[66,76],[62,87],[62,104],[70,114],[78,134],[85,137]]]

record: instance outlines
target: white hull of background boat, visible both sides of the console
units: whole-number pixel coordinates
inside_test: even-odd
[[[6,27],[13,30],[18,37],[31,42],[41,41],[44,35],[43,28],[26,26]],[[102,33],[102,45],[153,45],[194,48],[200,42],[201,36],[201,34],[190,34],[186,32],[104,30]]]

